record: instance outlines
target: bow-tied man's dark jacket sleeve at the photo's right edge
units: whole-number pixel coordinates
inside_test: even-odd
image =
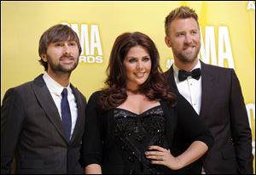
[[[241,86],[234,70],[231,72],[230,121],[236,162],[240,173],[253,173],[252,133]]]

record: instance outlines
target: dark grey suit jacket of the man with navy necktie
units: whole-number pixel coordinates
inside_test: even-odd
[[[1,107],[1,173],[10,172],[14,156],[16,173],[83,172],[79,158],[86,101],[71,88],[78,118],[69,142],[43,75],[6,92]]]

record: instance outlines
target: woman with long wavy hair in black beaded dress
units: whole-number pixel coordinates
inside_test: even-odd
[[[85,173],[172,173],[212,146],[212,135],[193,107],[167,88],[157,48],[141,32],[117,37],[106,88],[91,95],[85,112]],[[177,127],[191,144],[174,157]]]

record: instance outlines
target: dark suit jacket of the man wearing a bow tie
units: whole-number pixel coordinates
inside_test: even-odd
[[[177,90],[172,67],[165,75]],[[200,117],[209,127],[214,144],[205,159],[180,172],[201,173],[204,161],[207,173],[253,173],[252,133],[235,71],[201,62],[201,82]],[[189,145],[179,138],[174,139],[177,144],[172,148],[177,154]]]

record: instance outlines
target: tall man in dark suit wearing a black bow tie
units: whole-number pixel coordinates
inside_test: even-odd
[[[174,55],[166,78],[194,107],[214,138],[204,159],[179,172],[253,173],[252,133],[235,71],[206,65],[198,59],[201,38],[193,9],[174,9],[166,16],[165,27],[166,45]],[[184,139],[182,132],[178,131],[173,141],[173,155],[188,148],[189,138]]]

